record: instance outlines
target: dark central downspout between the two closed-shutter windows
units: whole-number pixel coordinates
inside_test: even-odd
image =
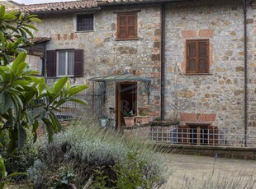
[[[161,4],[161,120],[164,120],[165,105],[165,3]]]

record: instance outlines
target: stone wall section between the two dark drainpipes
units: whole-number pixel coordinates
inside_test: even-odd
[[[228,2],[168,6],[167,117],[213,113],[220,128],[244,128],[244,12],[241,1]],[[186,39],[209,39],[209,74],[186,74]]]

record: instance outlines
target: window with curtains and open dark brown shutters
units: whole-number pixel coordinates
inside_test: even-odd
[[[47,76],[83,76],[83,49],[46,51]]]

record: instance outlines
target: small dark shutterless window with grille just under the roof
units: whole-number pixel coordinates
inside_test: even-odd
[[[93,15],[78,15],[77,16],[77,31],[92,31],[93,30]]]

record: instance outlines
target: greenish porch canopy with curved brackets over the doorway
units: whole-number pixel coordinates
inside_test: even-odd
[[[100,90],[102,94],[106,93],[106,82],[113,81],[113,82],[122,82],[122,81],[143,81],[145,83],[145,91],[149,95],[149,85],[151,80],[145,77],[134,76],[128,73],[121,74],[121,75],[112,75],[112,76],[99,76],[93,77],[89,79],[89,81],[98,82],[100,85]]]

